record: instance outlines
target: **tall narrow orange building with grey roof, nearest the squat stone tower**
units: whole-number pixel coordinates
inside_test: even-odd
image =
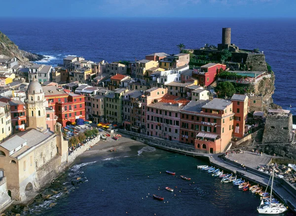
[[[247,95],[234,94],[231,98],[233,104],[234,123],[233,136],[243,138],[248,134],[245,124],[249,112],[249,97]]]

